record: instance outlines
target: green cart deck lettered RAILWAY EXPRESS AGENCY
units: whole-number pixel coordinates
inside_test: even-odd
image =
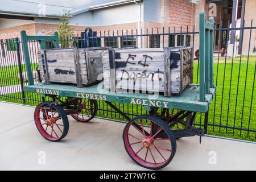
[[[154,96],[154,94],[143,93],[108,92],[104,90],[104,82],[85,88],[77,88],[75,85],[45,85],[40,83],[24,86],[24,91],[61,97],[89,98],[92,100],[118,102],[119,104],[137,104],[206,113],[216,89],[210,88],[210,94],[205,94],[205,102],[200,102],[199,85],[191,85],[181,96],[173,97],[164,97],[162,94]]]

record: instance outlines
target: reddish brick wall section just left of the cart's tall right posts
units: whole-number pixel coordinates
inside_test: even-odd
[[[183,31],[191,30],[193,3],[185,0],[170,0],[170,27],[183,27]]]

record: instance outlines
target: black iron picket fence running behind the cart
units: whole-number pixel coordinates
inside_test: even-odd
[[[228,23],[229,24],[229,23]],[[209,108],[208,134],[255,141],[256,137],[256,40],[255,29],[250,27],[216,28],[214,32],[214,84],[216,97]],[[240,32],[241,38],[235,44],[230,43],[230,32]],[[61,47],[140,47],[162,48],[174,46],[194,47],[195,57],[199,55],[199,32],[195,27],[150,28],[146,30],[119,30],[89,32],[89,36],[74,35],[60,37]],[[233,36],[239,37],[236,34]],[[252,40],[252,41],[251,41]],[[239,42],[239,46],[237,46]],[[22,46],[18,38],[0,42],[0,100],[27,105],[38,105],[42,96],[27,93],[22,89],[27,84],[26,67]],[[38,78],[38,42],[28,42],[32,73],[35,82]],[[55,48],[55,43],[47,42],[46,48]],[[230,51],[231,50],[231,51]],[[240,52],[242,54],[237,55]],[[199,83],[199,59],[195,59],[194,82]],[[50,99],[50,98],[49,98]],[[125,120],[107,104],[98,101],[99,117]],[[116,104],[120,110],[135,117],[144,114],[143,106]],[[175,112],[175,110],[172,110]],[[204,126],[204,114],[196,115],[195,125]]]

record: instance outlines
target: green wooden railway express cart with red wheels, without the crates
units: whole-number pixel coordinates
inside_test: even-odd
[[[22,32],[23,52],[26,61],[28,86],[24,91],[40,93],[52,97],[53,101],[42,102],[35,109],[35,124],[40,134],[47,140],[57,142],[63,139],[69,129],[68,117],[77,121],[88,122],[97,114],[97,100],[105,101],[127,121],[123,131],[123,142],[127,153],[139,165],[159,169],[167,166],[174,158],[176,139],[182,137],[202,136],[207,131],[208,110],[216,92],[213,84],[213,18],[205,20],[200,14],[200,85],[190,85],[181,96],[154,98],[142,93],[112,93],[104,89],[101,82],[85,88],[64,84],[34,85],[28,40],[38,40],[44,49],[45,41],[55,40],[54,36],[27,36]],[[61,98],[65,98],[65,101]],[[129,118],[113,102],[119,104],[143,105],[148,115]],[[171,109],[178,110],[171,114]],[[196,113],[205,113],[205,127],[193,126]],[[102,151],[103,152],[103,151]]]

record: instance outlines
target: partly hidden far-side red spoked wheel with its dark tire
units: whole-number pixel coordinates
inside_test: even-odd
[[[92,120],[98,111],[98,104],[96,100],[82,100],[81,109],[79,113],[71,114],[72,118],[79,122],[89,122]]]

